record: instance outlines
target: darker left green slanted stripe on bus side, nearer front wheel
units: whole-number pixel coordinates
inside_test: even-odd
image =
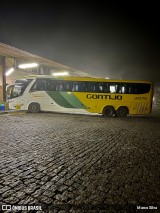
[[[71,105],[62,95],[60,92],[57,91],[47,91],[47,94],[60,106],[65,108],[75,108]]]

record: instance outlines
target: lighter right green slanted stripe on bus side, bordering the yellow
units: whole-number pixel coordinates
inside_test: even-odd
[[[74,108],[78,109],[85,109],[86,106],[82,104],[82,102],[73,94],[73,93],[66,93],[66,92],[60,92],[61,95],[68,101]]]

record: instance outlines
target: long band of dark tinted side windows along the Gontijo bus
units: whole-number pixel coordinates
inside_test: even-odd
[[[96,93],[144,94],[148,93],[151,84],[119,82],[87,82],[37,79],[31,91],[73,91]]]

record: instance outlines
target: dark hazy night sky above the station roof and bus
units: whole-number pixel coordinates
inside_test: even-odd
[[[160,82],[158,3],[10,2],[0,42],[95,76]]]

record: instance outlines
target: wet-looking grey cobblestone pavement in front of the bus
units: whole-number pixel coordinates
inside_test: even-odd
[[[38,213],[159,209],[159,150],[157,117],[1,115],[0,208],[15,205],[24,213],[27,205],[41,206]]]

